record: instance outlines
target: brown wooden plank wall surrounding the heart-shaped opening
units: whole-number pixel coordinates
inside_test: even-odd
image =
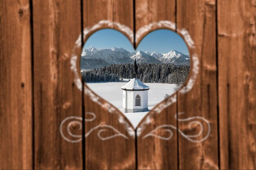
[[[1,0],[0,169],[256,169],[255,7]],[[81,47],[103,28],[135,47],[150,31],[171,29],[192,54],[185,86],[136,130],[81,82]]]

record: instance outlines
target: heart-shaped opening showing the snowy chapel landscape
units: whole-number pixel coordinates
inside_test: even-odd
[[[92,91],[124,113],[136,128],[150,110],[184,84],[190,70],[188,53],[184,40],[171,30],[149,33],[135,51],[122,33],[102,29],[83,47],[81,75]]]

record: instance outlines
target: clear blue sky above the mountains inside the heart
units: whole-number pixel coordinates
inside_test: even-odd
[[[92,34],[85,42],[84,48],[88,49],[89,46],[94,46],[96,49],[122,47],[128,51],[135,51],[128,38],[119,31],[113,29],[102,29]],[[187,46],[180,35],[166,29],[159,29],[146,35],[139,43],[136,51],[139,50],[151,53],[153,51],[158,53],[168,53],[171,50],[177,50],[184,54],[189,53]]]

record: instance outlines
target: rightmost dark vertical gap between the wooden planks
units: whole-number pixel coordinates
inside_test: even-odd
[[[218,0],[216,0],[216,93],[217,93],[217,133],[218,133],[218,167],[220,169],[220,111],[219,111],[219,72],[218,72]]]

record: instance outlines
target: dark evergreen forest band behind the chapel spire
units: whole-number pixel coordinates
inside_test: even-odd
[[[112,64],[102,68],[81,71],[85,82],[119,82],[132,78],[133,64]],[[142,82],[184,84],[189,75],[190,66],[174,64],[140,63],[138,78]]]

